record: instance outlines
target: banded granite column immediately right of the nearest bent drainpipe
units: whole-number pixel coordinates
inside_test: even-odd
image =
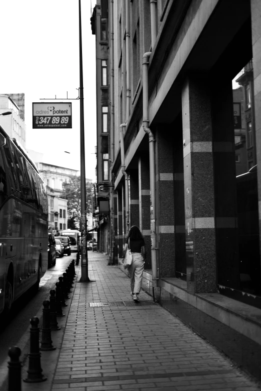
[[[155,155],[159,275],[160,277],[175,277],[172,131],[166,125],[157,127]]]

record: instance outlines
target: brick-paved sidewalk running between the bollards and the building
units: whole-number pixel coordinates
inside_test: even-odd
[[[260,390],[146,293],[135,304],[107,257],[88,258],[94,282],[76,284],[52,390]]]

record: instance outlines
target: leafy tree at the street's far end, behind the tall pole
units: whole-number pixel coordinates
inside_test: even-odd
[[[91,211],[91,197],[93,184],[86,181],[86,208]],[[61,198],[67,200],[68,228],[79,227],[80,222],[80,176],[70,176],[67,182],[62,183]],[[75,229],[75,228],[74,228]]]

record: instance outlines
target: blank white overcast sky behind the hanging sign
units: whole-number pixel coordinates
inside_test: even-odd
[[[91,5],[94,0],[81,0],[85,174],[95,180],[96,71]],[[78,0],[5,0],[0,14],[0,93],[25,94],[26,149],[43,153],[44,162],[79,169],[79,100],[70,100],[72,129],[32,129],[32,102],[55,102],[50,98],[66,98],[67,92],[68,98],[78,96]]]

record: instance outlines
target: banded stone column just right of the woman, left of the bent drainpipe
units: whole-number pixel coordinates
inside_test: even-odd
[[[138,159],[139,229],[144,236],[147,258],[145,269],[151,269],[149,155]]]

